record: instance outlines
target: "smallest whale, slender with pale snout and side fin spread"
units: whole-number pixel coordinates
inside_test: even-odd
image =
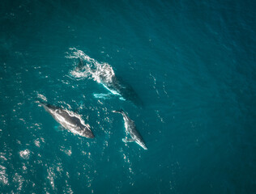
[[[113,112],[122,114],[123,119],[125,120],[126,133],[130,134],[130,137],[131,137],[129,139],[127,137],[123,138],[122,141],[136,142],[137,144],[139,144],[139,146],[142,146],[144,150],[147,150],[147,146],[145,145],[145,143],[143,141],[143,137],[141,137],[141,135],[137,131],[134,121],[130,120],[130,118],[127,116],[127,114],[125,112],[123,112],[122,110],[113,111]]]

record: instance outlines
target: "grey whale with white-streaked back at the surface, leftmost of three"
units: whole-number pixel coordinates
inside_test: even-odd
[[[75,112],[70,112],[48,103],[41,103],[41,105],[59,124],[62,124],[63,128],[82,137],[94,138],[89,124],[85,124],[82,117],[75,114]]]

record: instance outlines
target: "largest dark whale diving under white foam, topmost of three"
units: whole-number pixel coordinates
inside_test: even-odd
[[[79,58],[78,65],[75,68],[76,71],[86,70],[87,74],[90,74],[96,82],[104,86],[111,94],[117,95],[119,99],[129,100],[138,107],[143,107],[143,102],[139,95],[129,84],[123,82],[122,78],[114,74],[113,68],[109,64],[100,64],[91,58],[86,59],[86,62],[90,61],[94,65],[83,65],[83,59]]]

